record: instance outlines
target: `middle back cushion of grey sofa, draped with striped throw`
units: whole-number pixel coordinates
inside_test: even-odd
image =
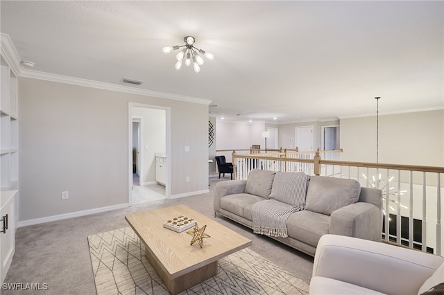
[[[270,198],[304,210],[308,180],[304,172],[276,172]]]

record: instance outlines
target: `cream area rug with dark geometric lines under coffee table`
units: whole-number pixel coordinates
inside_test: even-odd
[[[144,244],[126,227],[88,237],[96,292],[169,294],[145,257]],[[183,294],[308,294],[309,285],[250,249],[217,263],[216,276]]]

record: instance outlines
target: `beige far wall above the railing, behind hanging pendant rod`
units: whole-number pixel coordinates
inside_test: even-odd
[[[376,116],[341,119],[343,161],[376,162]],[[379,115],[379,163],[444,166],[444,110]]]

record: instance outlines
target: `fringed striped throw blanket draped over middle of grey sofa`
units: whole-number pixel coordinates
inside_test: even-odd
[[[309,176],[304,172],[276,172],[271,199],[251,207],[253,232],[287,238],[287,219],[291,213],[304,210]]]

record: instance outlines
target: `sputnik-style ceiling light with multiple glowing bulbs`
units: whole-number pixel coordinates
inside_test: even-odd
[[[185,36],[183,38],[183,41],[185,44],[181,46],[167,46],[162,48],[162,51],[167,54],[171,51],[177,50],[179,48],[184,47],[177,55],[176,59],[178,62],[174,65],[174,68],[176,70],[180,70],[182,68],[182,62],[185,60],[185,66],[189,66],[191,64],[191,60],[193,60],[193,67],[194,71],[196,73],[200,72],[200,66],[203,65],[203,58],[198,54],[205,55],[209,60],[214,60],[214,55],[211,53],[205,52],[202,49],[198,49],[194,47],[194,42],[196,42],[196,39],[192,36]]]

